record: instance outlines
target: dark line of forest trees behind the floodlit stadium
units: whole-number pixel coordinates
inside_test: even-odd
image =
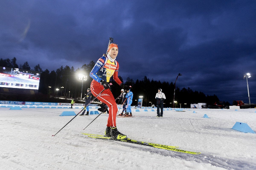
[[[28,62],[24,62],[23,65],[18,67],[16,63],[16,58],[13,59],[0,59],[0,66],[10,67],[10,68],[21,68],[24,70],[40,71],[40,84],[38,93],[50,96],[62,96],[67,98],[73,97],[75,99],[80,99],[87,93],[87,88],[90,88],[90,83],[92,78],[89,76],[90,71],[95,65],[94,61],[89,64],[84,64],[81,68],[74,69],[73,66],[66,65],[61,66],[56,69],[56,71],[49,71],[46,69],[43,71],[40,65],[36,65],[34,69],[31,69]],[[86,80],[84,77],[79,80],[79,74],[86,74]],[[143,106],[156,105],[155,95],[158,88],[163,90],[166,95],[166,100],[164,101],[164,107],[172,107],[173,105],[173,95],[174,95],[174,84],[173,82],[160,82],[154,79],[148,79],[146,76],[142,79],[133,80],[130,77],[124,81],[119,75],[119,79],[124,82],[125,85],[131,85],[131,91],[134,94],[134,99],[132,105],[137,105],[137,99],[139,96],[143,96]],[[110,79],[112,82],[111,91],[114,97],[120,95],[121,87],[114,82],[113,77]],[[56,89],[59,89],[58,91]],[[190,107],[191,103],[207,103],[207,105],[213,105],[215,102],[220,102],[216,95],[210,96],[205,95],[201,91],[193,91],[191,88],[178,88],[175,89],[175,101],[176,107]],[[117,100],[118,102],[118,100]],[[229,105],[228,102],[223,102],[224,105]]]

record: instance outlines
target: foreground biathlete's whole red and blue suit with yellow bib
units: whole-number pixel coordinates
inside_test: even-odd
[[[110,57],[110,56],[109,56]],[[98,59],[94,65],[92,71],[90,72],[90,77],[93,78],[91,82],[90,89],[93,96],[97,96],[103,89],[103,85],[100,84],[101,80],[109,82],[109,79],[113,76],[115,82],[121,85],[121,80],[118,78],[119,64],[115,60],[111,62],[108,57],[102,56]],[[100,101],[108,105],[108,127],[116,127],[116,113],[118,111],[115,98],[111,93],[110,89],[103,91],[98,97]]]

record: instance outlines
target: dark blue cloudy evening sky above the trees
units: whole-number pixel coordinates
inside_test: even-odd
[[[80,68],[119,45],[119,75],[256,103],[255,0],[1,0],[0,58]],[[168,94],[166,94],[168,96]]]

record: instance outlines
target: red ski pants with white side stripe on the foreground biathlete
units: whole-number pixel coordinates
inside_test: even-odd
[[[93,96],[97,96],[103,89],[103,85],[101,85],[99,82],[96,82],[93,80],[90,85],[91,92]],[[116,127],[116,113],[118,111],[116,100],[111,93],[110,89],[106,89],[103,91],[98,97],[101,102],[105,103],[109,108],[109,114],[108,114],[108,127]]]

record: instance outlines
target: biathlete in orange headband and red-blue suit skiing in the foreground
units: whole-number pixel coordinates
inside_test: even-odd
[[[112,139],[126,139],[127,136],[120,133],[116,128],[116,113],[118,111],[116,101],[112,92],[110,91],[109,80],[113,76],[113,79],[123,89],[129,89],[128,86],[123,85],[118,78],[119,63],[116,61],[118,54],[118,45],[116,43],[110,43],[108,45],[107,56],[103,55],[98,59],[90,72],[90,77],[93,78],[90,89],[93,96],[97,96],[103,89],[105,89],[98,97],[101,102],[108,105],[108,123],[105,130],[105,136]]]

